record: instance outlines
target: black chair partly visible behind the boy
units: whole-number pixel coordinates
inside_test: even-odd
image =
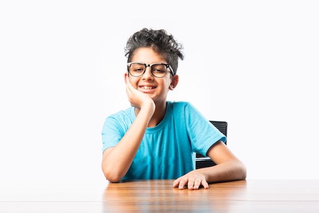
[[[227,137],[227,122],[226,121],[210,121],[210,123],[216,128],[218,128],[222,134]],[[227,145],[227,141],[225,142]],[[204,168],[204,167],[211,167],[215,166],[215,162],[211,161],[209,157],[205,157],[200,153],[196,153],[196,169]]]

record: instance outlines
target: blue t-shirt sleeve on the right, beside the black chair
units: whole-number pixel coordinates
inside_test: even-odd
[[[192,151],[206,155],[217,141],[226,142],[226,136],[207,120],[191,103],[185,105],[185,122]]]

